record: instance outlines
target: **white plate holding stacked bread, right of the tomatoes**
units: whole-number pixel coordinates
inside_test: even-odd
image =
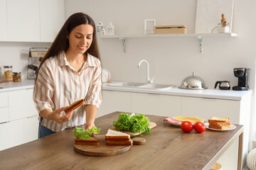
[[[235,125],[230,123],[230,118],[218,116],[213,116],[205,125],[207,129],[219,131],[234,130],[236,128]]]

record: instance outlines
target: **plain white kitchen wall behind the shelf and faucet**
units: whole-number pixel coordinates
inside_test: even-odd
[[[249,67],[250,89],[255,89],[256,21],[252,16],[256,16],[256,1],[235,0],[234,4],[233,33],[238,33],[238,38],[204,38],[203,54],[193,38],[128,38],[127,52],[122,51],[120,40],[100,39],[102,65],[110,70],[112,81],[143,82],[146,67],[137,64],[146,59],[156,83],[180,84],[195,71],[210,89],[218,80],[237,85],[233,68]],[[195,31],[196,0],[65,0],[65,8],[66,18],[84,12],[95,23],[102,21],[107,26],[111,21],[115,34],[144,34],[144,19],[152,18],[159,26],[182,24],[188,33]],[[252,103],[251,120],[255,120],[254,97]],[[255,131],[251,136],[255,138]]]

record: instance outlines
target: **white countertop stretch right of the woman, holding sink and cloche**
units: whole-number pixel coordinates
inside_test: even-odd
[[[114,82],[115,83],[115,82]],[[171,96],[188,96],[188,97],[200,97],[200,98],[218,98],[225,100],[242,100],[243,96],[251,94],[252,90],[248,91],[233,91],[233,90],[220,90],[220,89],[204,89],[204,90],[189,90],[179,89],[178,86],[171,89],[155,90],[155,89],[142,89],[134,87],[120,87],[120,86],[108,86],[107,83],[102,85],[103,90],[110,91],[129,91],[135,93],[145,94],[164,94]]]

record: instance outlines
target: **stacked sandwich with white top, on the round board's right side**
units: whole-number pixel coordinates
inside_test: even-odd
[[[129,146],[132,145],[132,140],[129,134],[117,132],[115,130],[107,130],[105,135],[107,145],[110,146]]]

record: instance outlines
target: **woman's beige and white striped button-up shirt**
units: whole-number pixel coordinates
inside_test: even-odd
[[[82,65],[80,72],[71,67],[65,52],[48,58],[39,69],[35,85],[33,100],[38,112],[46,108],[55,111],[82,98],[85,98],[85,105],[94,105],[99,108],[102,102],[101,70],[100,60],[90,54],[87,55],[87,61]],[[55,120],[43,118],[41,124],[54,132],[84,125],[86,123],[85,105],[75,109],[68,122],[60,124]],[[39,115],[38,120],[40,118]]]

